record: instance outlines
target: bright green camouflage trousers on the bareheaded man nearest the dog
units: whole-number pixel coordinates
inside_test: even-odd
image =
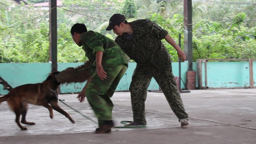
[[[110,98],[126,72],[127,65],[103,66],[103,68],[107,72],[107,78],[101,80],[95,71],[85,90],[87,100],[98,118],[99,126],[106,120],[112,120],[114,104]]]

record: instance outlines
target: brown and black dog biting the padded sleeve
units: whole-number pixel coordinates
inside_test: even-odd
[[[53,118],[52,109],[54,109],[74,123],[74,120],[70,117],[70,115],[60,108],[60,106],[58,106],[58,95],[56,92],[58,86],[60,85],[60,83],[56,80],[56,75],[58,73],[59,72],[52,72],[42,83],[17,86],[16,88],[10,90],[10,92],[5,96],[0,97],[0,103],[7,101],[10,109],[16,114],[15,121],[21,130],[27,130],[27,128],[21,126],[20,115],[22,115],[22,124],[35,124],[34,122],[26,121],[28,104],[48,108],[50,111],[50,118]]]

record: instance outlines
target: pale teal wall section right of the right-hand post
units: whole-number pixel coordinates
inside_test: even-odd
[[[248,88],[250,86],[249,62],[207,62],[207,86],[209,88]],[[204,62],[202,86],[205,86]],[[253,62],[255,82],[256,62]]]

